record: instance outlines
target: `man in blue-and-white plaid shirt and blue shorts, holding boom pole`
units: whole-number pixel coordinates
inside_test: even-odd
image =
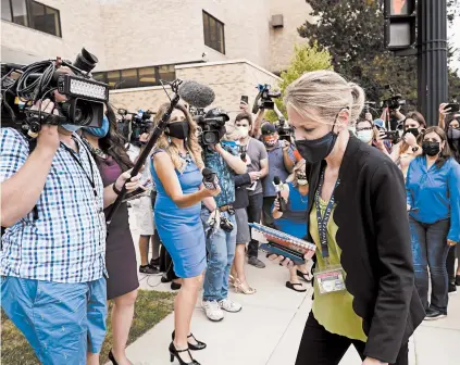
[[[41,110],[57,114],[49,99]],[[1,225],[8,227],[1,304],[43,364],[99,364],[107,316],[103,207],[130,177],[103,188],[77,129],[43,124],[32,153],[20,131],[0,134]]]

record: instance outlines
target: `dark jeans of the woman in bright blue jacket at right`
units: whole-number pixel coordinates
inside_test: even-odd
[[[448,303],[448,276],[446,269],[447,234],[449,232],[450,219],[438,221],[433,224],[424,224],[409,217],[413,268],[415,272],[415,286],[419,297],[425,307],[437,310],[447,314]],[[432,298],[428,303],[428,270],[432,281]]]

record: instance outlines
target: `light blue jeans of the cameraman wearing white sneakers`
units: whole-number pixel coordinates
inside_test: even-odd
[[[201,221],[207,227],[209,218],[209,211],[201,210]],[[236,248],[236,221],[235,215],[228,212],[221,213],[221,216],[226,217],[232,222],[234,228],[231,232],[226,232],[222,228],[206,240],[208,251],[208,269],[204,274],[204,301],[221,301],[228,297],[228,277],[235,259]]]

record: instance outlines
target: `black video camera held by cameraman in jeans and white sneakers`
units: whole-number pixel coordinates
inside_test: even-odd
[[[225,123],[229,121],[228,115],[219,108],[210,109],[204,115],[196,117],[200,129],[199,142],[201,147],[213,146],[225,135]]]

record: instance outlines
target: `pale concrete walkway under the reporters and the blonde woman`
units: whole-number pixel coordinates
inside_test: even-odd
[[[137,242],[137,236],[134,237]],[[244,305],[240,313],[227,314],[221,323],[211,323],[197,303],[192,318],[196,337],[208,343],[195,352],[202,365],[294,365],[303,326],[311,307],[311,288],[296,293],[285,288],[286,268],[268,263],[266,268],[247,266],[249,282],[258,289],[254,295],[231,293]],[[140,276],[140,287],[170,290],[159,276]],[[413,336],[411,365],[457,365],[460,343],[460,293],[450,297],[449,316],[424,323]],[[135,365],[167,365],[167,347],[173,330],[173,314],[145,333],[127,349]],[[175,362],[174,364],[177,364]],[[350,349],[340,365],[360,365]]]

